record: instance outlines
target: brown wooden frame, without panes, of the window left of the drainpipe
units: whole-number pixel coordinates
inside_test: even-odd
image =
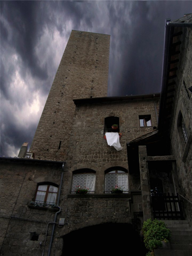
[[[39,190],[38,188],[39,188],[39,186],[47,186],[47,188],[46,188],[46,190]],[[49,191],[49,188],[50,188],[50,186],[53,186],[53,187],[56,187],[57,188],[57,192],[51,192],[51,191]],[[38,182],[37,183],[37,188],[36,188],[36,191],[35,191],[35,196],[34,196],[34,202],[43,202],[43,203],[48,203],[48,204],[50,204],[50,205],[54,205],[54,204],[56,204],[56,202],[57,202],[57,196],[58,196],[58,188],[59,188],[59,186],[57,185],[57,184],[55,184],[55,183],[53,183],[53,182]],[[45,192],[45,197],[44,197],[44,200],[42,201],[42,200],[37,200],[37,193],[38,193],[38,191],[41,191],[41,192]],[[49,194],[57,194],[57,196],[56,196],[56,198],[55,198],[55,202],[50,202],[50,201],[47,201],[47,198],[48,198],[48,196],[49,196]]]

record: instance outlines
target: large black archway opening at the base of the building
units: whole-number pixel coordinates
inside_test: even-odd
[[[144,256],[145,246],[131,224],[105,223],[85,227],[63,237],[63,256],[66,251],[89,254],[124,254]]]

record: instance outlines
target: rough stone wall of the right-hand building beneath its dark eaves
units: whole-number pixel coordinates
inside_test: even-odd
[[[192,202],[192,94],[188,90],[192,86],[192,30],[182,29],[182,45],[179,68],[177,71],[177,81],[175,87],[174,109],[171,121],[171,154],[175,155],[176,165],[173,166],[176,191]],[[188,138],[185,142],[179,115],[182,114]],[[191,204],[184,199],[187,218],[191,221]]]

